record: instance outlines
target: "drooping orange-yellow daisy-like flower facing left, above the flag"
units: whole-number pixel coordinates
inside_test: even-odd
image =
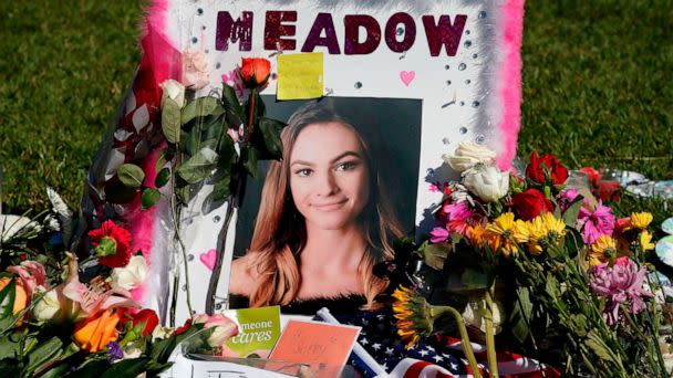
[[[400,286],[395,288],[393,313],[397,319],[397,335],[406,342],[406,348],[427,337],[433,332],[432,307],[416,291]]]

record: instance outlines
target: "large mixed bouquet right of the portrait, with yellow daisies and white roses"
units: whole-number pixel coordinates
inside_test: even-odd
[[[659,345],[666,296],[648,263],[650,213],[618,219],[565,187],[568,170],[549,154],[532,153],[520,176],[495,167],[495,151],[479,145],[460,144],[444,159],[460,180],[432,186],[444,193],[438,225],[413,248],[443,274],[432,285],[432,275],[412,274],[414,287],[394,293],[410,345],[446,329],[451,314],[468,359],[464,323],[485,333],[491,375],[495,334],[507,329],[517,340],[509,347],[569,375],[667,376]]]

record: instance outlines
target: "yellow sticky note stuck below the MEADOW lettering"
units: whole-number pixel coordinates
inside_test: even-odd
[[[278,55],[278,99],[322,97],[324,76],[321,52]]]

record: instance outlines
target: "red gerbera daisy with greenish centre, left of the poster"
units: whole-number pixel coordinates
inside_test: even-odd
[[[133,256],[131,232],[106,220],[100,229],[89,231],[99,262],[110,267],[122,267]]]

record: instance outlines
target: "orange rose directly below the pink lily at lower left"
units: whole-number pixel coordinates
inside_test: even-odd
[[[72,338],[83,350],[99,351],[120,336],[116,328],[120,319],[120,313],[112,308],[106,309],[96,317],[90,317],[75,324],[75,333]]]

